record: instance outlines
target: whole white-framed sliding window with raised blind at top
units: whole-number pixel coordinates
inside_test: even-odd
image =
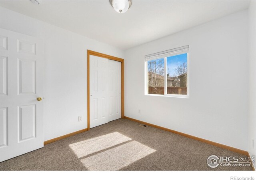
[[[145,56],[146,95],[188,98],[188,50],[184,46]]]

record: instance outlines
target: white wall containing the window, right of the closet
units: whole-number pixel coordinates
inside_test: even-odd
[[[126,50],[125,116],[247,150],[247,19],[238,12]],[[190,98],[145,96],[144,56],[185,45]]]

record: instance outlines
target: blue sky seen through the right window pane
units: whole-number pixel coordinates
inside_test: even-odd
[[[168,68],[169,68],[170,76],[173,76],[173,74],[175,73],[174,69],[178,65],[183,64],[183,63],[187,64],[187,53],[167,57],[167,73],[168,73]]]

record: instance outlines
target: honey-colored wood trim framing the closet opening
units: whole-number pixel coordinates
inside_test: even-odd
[[[121,118],[124,118],[124,59],[87,50],[87,130],[90,129],[90,55],[121,62]]]

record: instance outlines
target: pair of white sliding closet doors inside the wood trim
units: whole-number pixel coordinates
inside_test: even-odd
[[[121,118],[121,63],[90,55],[90,128]]]

